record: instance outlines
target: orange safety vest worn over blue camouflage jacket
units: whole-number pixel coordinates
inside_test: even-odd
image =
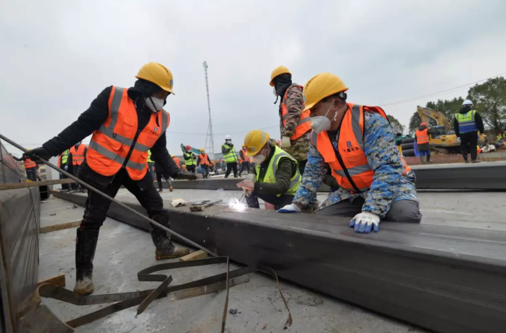
[[[381,114],[385,119],[387,115],[377,106],[361,106],[347,103],[348,109],[341,123],[338,137],[338,150],[335,150],[327,131],[317,134],[311,132],[311,144],[318,150],[326,163],[330,166],[332,176],[338,184],[351,193],[361,193],[369,190],[374,177],[370,168],[364,148],[364,110]],[[404,165],[402,174],[411,169],[402,156]]]

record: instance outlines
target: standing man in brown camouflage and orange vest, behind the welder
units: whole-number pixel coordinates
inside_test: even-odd
[[[276,102],[278,97],[281,97],[279,103],[281,148],[297,159],[299,171],[303,175],[309,150],[307,134],[311,130],[309,110],[303,112],[303,87],[291,82],[291,73],[285,66],[279,66],[272,71],[270,85],[274,87]]]

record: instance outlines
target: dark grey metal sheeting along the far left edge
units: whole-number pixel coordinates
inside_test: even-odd
[[[0,184],[18,183],[21,170],[0,144]],[[38,188],[0,191],[0,332],[17,331],[19,304],[38,281]]]

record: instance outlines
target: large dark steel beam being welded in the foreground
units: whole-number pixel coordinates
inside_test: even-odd
[[[145,213],[135,199],[122,201]],[[286,280],[369,310],[441,333],[506,327],[506,232],[384,222],[381,232],[365,235],[341,217],[219,206],[170,211],[174,231],[219,255],[270,266]],[[147,229],[119,206],[108,215]]]

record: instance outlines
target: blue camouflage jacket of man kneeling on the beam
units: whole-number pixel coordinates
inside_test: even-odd
[[[321,204],[320,209],[333,203],[362,196],[365,203],[362,212],[385,217],[392,202],[398,200],[418,201],[416,197],[415,175],[413,171],[402,175],[403,165],[399,151],[394,143],[392,127],[381,115],[365,111],[364,146],[367,161],[374,177],[368,191],[352,194],[343,188],[328,195]],[[337,149],[337,142],[330,138],[332,145]],[[327,165],[318,150],[309,145],[308,163],[302,178],[301,185],[293,202],[305,210],[317,205],[316,193],[327,174]]]

